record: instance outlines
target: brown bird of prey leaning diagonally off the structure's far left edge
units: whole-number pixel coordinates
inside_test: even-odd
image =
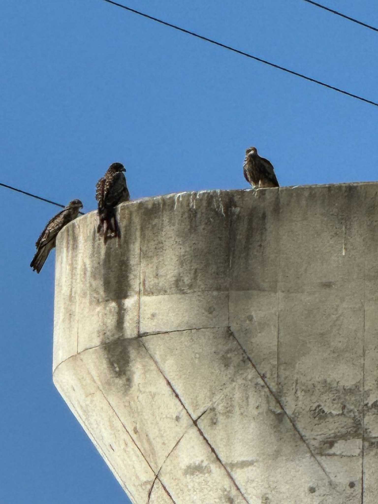
[[[76,219],[81,208],[83,208],[83,203],[80,200],[70,201],[67,207],[48,221],[35,244],[37,251],[33,257],[33,261],[30,263],[33,271],[37,273],[41,271],[51,248],[55,246],[56,235],[66,224]]]

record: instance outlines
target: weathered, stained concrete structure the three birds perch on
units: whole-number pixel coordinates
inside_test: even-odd
[[[376,504],[378,183],[182,193],[56,244],[54,383],[136,504]]]

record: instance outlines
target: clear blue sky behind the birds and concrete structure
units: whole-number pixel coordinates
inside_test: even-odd
[[[378,101],[378,34],[303,0],[124,3]],[[376,2],[326,5],[378,27]],[[3,0],[0,46],[0,182],[25,191],[94,210],[114,161],[133,199],[246,188],[250,145],[281,185],[377,178],[378,107],[102,0]],[[58,209],[0,194],[0,502],[128,502],[52,385],[54,254],[29,263]]]

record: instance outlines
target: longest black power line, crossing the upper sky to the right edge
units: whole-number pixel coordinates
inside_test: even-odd
[[[189,31],[189,30],[185,30],[184,28],[180,28],[179,26],[172,25],[171,23],[167,23],[166,21],[162,21],[161,19],[154,18],[153,16],[149,16],[148,14],[144,14],[143,12],[136,11],[135,9],[131,9],[130,7],[126,7],[125,5],[117,4],[117,2],[113,2],[112,0],[103,0],[103,1],[107,2],[108,4],[112,4],[117,7],[120,7],[121,9],[125,9],[126,11],[133,12],[134,14],[138,14],[139,16],[143,16],[144,18],[151,19],[152,21],[156,21],[157,23],[160,23],[162,25],[174,28],[175,30],[179,30],[183,33],[187,33],[188,35],[193,35],[194,37],[200,38],[201,40],[206,40],[206,42],[210,42],[212,44],[218,45],[218,46],[223,47],[225,49],[229,49],[230,51],[236,52],[237,54],[241,54],[242,56],[246,56],[251,59],[256,59],[256,61],[260,61],[260,62],[265,63],[266,65],[269,65],[271,67],[278,68],[279,70],[283,70],[284,72],[287,72],[288,74],[296,75],[297,77],[301,77],[302,79],[306,79],[307,81],[314,82],[314,83],[319,84],[321,86],[324,86],[326,88],[333,89],[334,91],[338,91],[339,93],[343,93],[347,96],[351,96],[352,98],[356,98],[357,100],[361,100],[361,101],[364,101],[365,103],[370,103],[370,105],[375,105],[376,107],[378,107],[378,103],[376,103],[375,101],[367,100],[366,98],[362,98],[361,96],[358,96],[358,95],[355,95],[352,93],[348,93],[348,91],[344,91],[344,90],[336,88],[334,86],[330,86],[329,84],[326,84],[321,81],[317,81],[316,79],[312,79],[311,77],[307,77],[303,74],[299,74],[298,72],[294,72],[293,70],[289,70],[287,68],[280,67],[279,65],[275,65],[274,63],[271,63],[270,61],[267,61],[265,59],[259,58],[257,56],[253,56],[252,54],[248,54],[247,52],[244,52],[244,51],[239,51],[238,49],[235,49],[229,45],[222,44],[220,42],[212,40],[211,38],[204,37],[203,35],[199,35],[198,33],[195,33],[195,32]]]

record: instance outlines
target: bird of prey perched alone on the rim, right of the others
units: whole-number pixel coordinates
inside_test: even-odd
[[[272,163],[260,157],[256,147],[249,147],[245,151],[243,171],[252,187],[279,187]]]

